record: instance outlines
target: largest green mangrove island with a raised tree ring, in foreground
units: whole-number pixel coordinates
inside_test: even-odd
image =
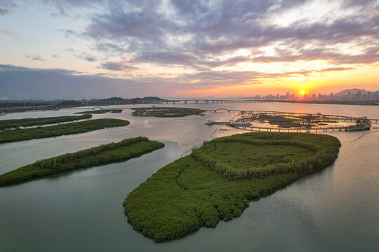
[[[159,169],[124,202],[128,222],[164,241],[240,216],[252,199],[331,165],[340,141],[323,134],[259,132],[204,142]]]

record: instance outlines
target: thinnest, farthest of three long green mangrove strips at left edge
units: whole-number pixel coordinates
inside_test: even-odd
[[[48,117],[48,118],[24,118],[24,119],[0,120],[0,130],[15,128],[15,127],[46,125],[46,124],[52,124],[52,123],[65,123],[65,122],[72,122],[74,120],[88,119],[91,117],[92,115],[82,115],[82,116],[56,116],[56,117]]]

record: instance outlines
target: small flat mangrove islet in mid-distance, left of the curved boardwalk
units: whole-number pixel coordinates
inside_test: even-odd
[[[192,108],[131,108],[134,110],[132,116],[148,116],[148,117],[163,117],[163,118],[173,118],[191,115],[202,115],[204,111],[201,109]]]

